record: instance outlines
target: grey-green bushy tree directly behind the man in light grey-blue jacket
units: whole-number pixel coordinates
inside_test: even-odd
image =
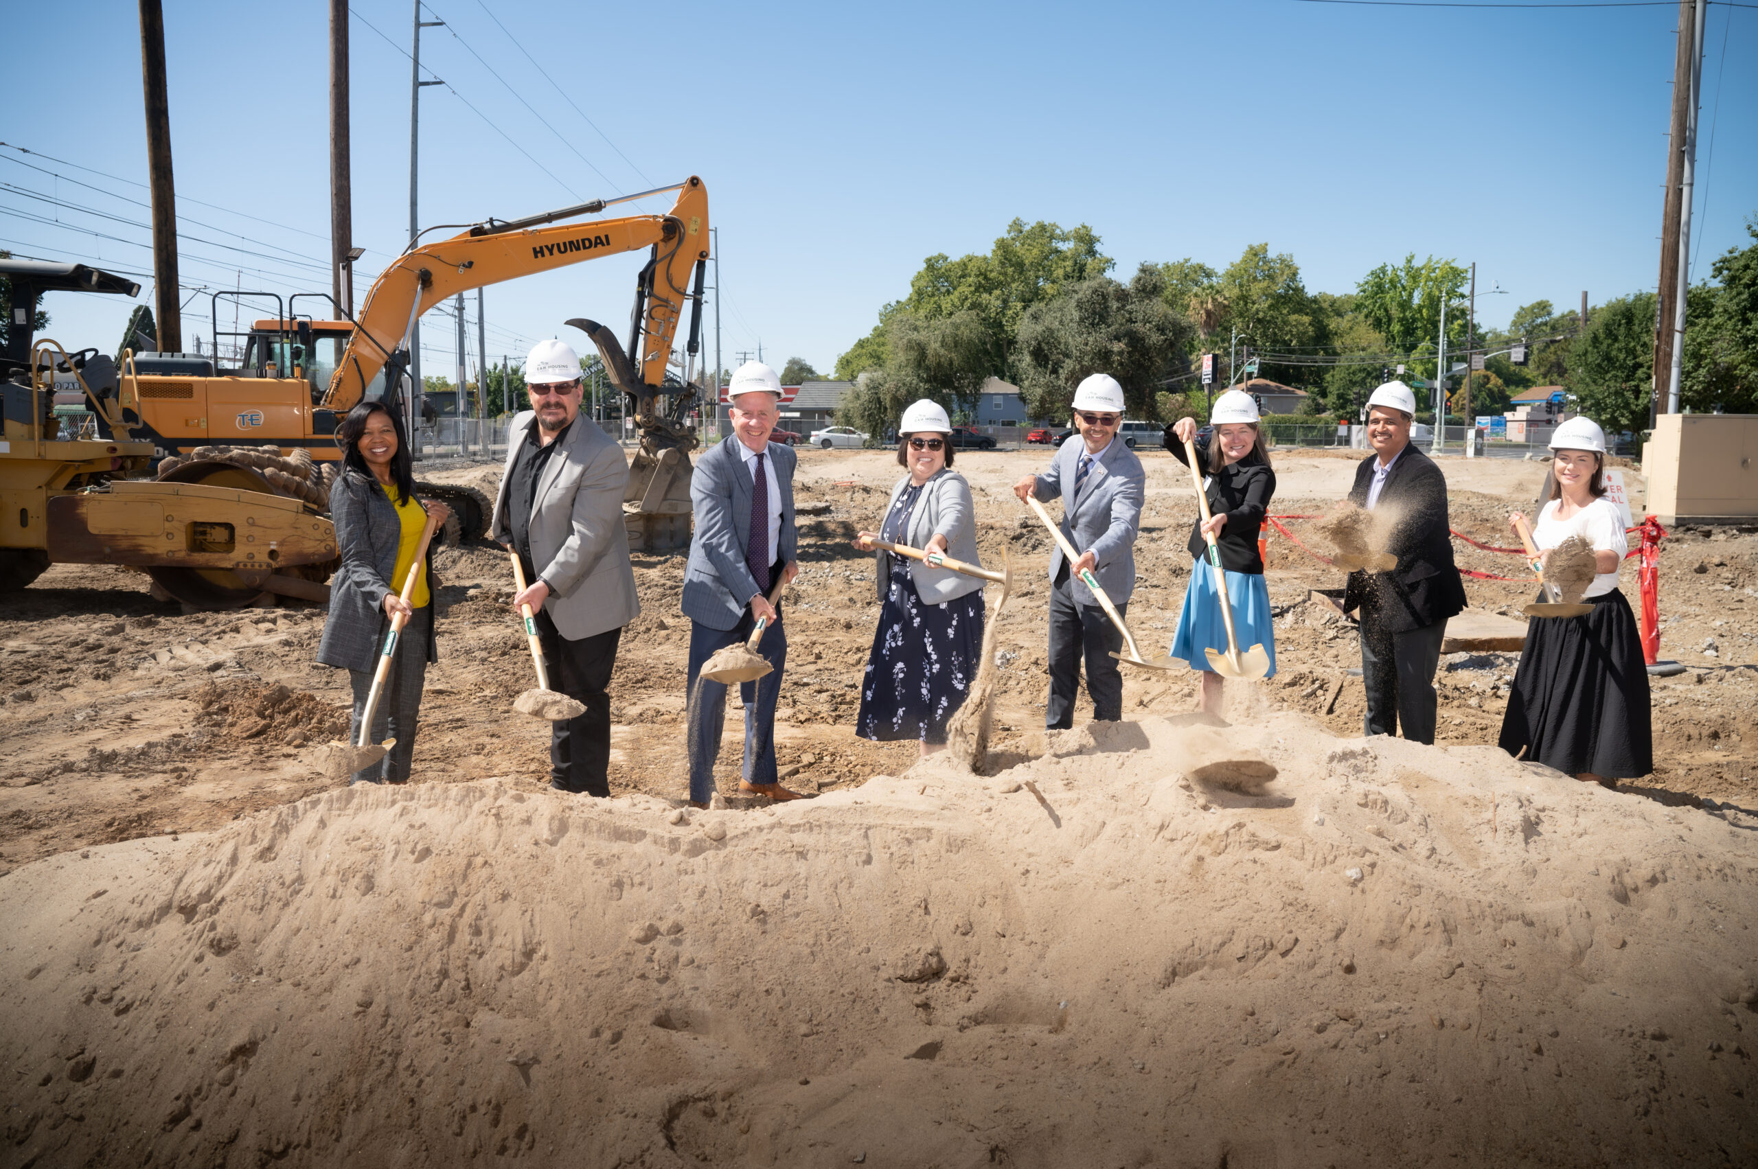
[[[1074,387],[1092,373],[1123,385],[1125,413],[1160,417],[1159,392],[1185,371],[1190,322],[1166,302],[1166,274],[1143,264],[1122,285],[1097,276],[1020,318],[1020,396],[1032,418],[1065,418]]]

